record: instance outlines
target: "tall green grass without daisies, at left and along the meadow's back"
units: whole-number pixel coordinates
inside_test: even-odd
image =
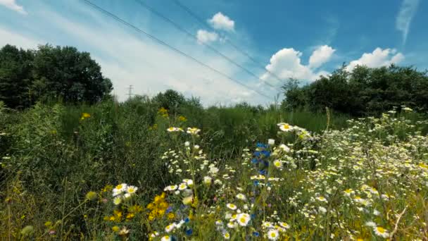
[[[329,129],[347,128],[348,118],[330,114]],[[420,120],[416,114],[410,118]],[[315,133],[327,128],[326,113],[251,106],[187,106],[170,113],[146,98],[93,106],[37,104],[19,112],[0,106],[0,121],[1,240],[113,238],[105,236],[102,220],[113,206],[106,184],[137,185],[139,202],[147,204],[176,180],[160,159],[183,147],[184,137],[166,132],[170,126],[201,128],[199,144],[220,166],[236,165],[242,149],[257,142],[284,141],[277,123]],[[93,190],[104,190],[96,203],[85,198]],[[23,230],[26,225],[33,230]]]

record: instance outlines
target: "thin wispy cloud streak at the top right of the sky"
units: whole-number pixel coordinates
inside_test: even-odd
[[[396,18],[397,30],[403,32],[403,43],[407,39],[409,33],[410,23],[412,22],[413,16],[417,11],[419,0],[403,0],[400,11]]]

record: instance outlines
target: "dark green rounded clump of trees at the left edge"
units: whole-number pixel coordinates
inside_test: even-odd
[[[94,104],[112,90],[101,67],[89,53],[75,47],[39,46],[0,49],[0,101],[9,108],[23,109],[37,101]]]

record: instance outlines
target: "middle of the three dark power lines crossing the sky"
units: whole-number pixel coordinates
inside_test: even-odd
[[[177,30],[180,30],[180,31],[184,32],[186,35],[189,35],[190,37],[193,37],[194,39],[198,40],[198,37],[196,35],[194,35],[191,32],[185,30],[183,27],[181,27],[180,25],[178,25],[177,23],[175,23],[170,18],[168,18],[165,15],[163,15],[162,13],[156,11],[156,9],[151,8],[151,6],[149,6],[146,3],[144,3],[144,1],[141,1],[141,0],[135,0],[135,1],[137,1],[137,3],[139,3],[141,6],[143,6],[147,10],[149,10],[152,13],[156,14],[156,16],[158,16],[160,18],[163,18],[163,20],[165,20],[168,23],[172,24],[175,28],[177,28]],[[269,85],[270,87],[276,89],[276,87],[274,85],[271,85],[269,82],[266,82],[265,80],[261,79],[260,77],[258,77],[258,75],[256,75],[255,73],[251,72],[251,70],[248,70],[248,68],[245,68],[244,66],[241,66],[241,64],[237,63],[236,61],[234,61],[232,58],[229,58],[225,54],[222,54],[222,52],[218,51],[217,49],[215,49],[214,47],[210,46],[209,44],[206,44],[206,43],[203,43],[203,42],[200,42],[200,44],[202,44],[203,46],[207,47],[208,49],[214,51],[216,54],[220,55],[222,58],[225,58],[230,63],[233,63],[235,66],[238,66],[239,68],[241,68],[242,70],[244,70],[246,73],[248,73],[250,75],[253,75],[253,77],[255,77],[256,79],[258,79],[258,80],[260,80],[262,82],[264,82],[266,85]]]

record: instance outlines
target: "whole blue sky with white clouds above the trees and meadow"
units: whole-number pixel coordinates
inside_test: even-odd
[[[344,62],[348,70],[358,64],[390,63],[428,68],[428,1],[177,0],[199,16],[203,21],[199,23],[175,0],[139,0],[197,39],[138,1],[91,1],[224,75],[116,22],[83,0],[0,0],[0,45],[75,46],[100,63],[120,100],[127,98],[127,87],[133,85],[134,94],[153,95],[172,88],[201,97],[204,105],[267,104],[279,93],[278,79],[310,82]]]

